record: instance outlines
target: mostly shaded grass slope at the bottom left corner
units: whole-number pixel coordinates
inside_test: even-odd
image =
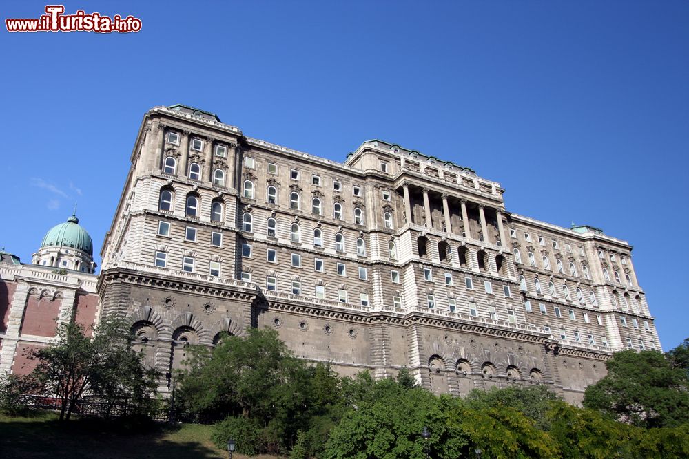
[[[52,412],[0,414],[0,456],[15,459],[227,458],[210,440],[212,426],[134,425],[94,418],[60,423]],[[259,456],[274,459],[274,456]],[[233,459],[247,456],[234,454]]]

